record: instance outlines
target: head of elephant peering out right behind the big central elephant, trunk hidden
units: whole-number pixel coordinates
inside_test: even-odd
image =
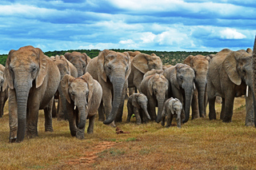
[[[133,59],[133,65],[140,72],[146,73],[151,69],[162,69],[162,60],[154,53],[138,53]]]

